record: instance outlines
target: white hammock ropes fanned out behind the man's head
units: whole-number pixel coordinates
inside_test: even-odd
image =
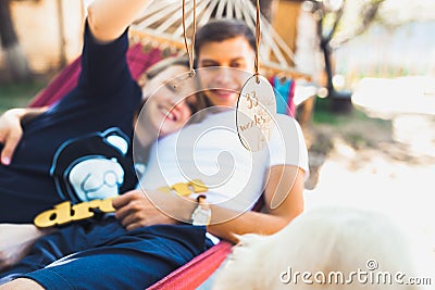
[[[183,38],[183,1],[154,0],[142,11],[130,27],[134,41],[152,43],[161,49],[176,50],[184,54]],[[194,7],[192,0],[186,1],[186,30],[192,33]],[[256,8],[248,0],[201,0],[196,8],[197,27],[210,21],[215,11],[215,18],[235,17],[244,21],[252,31],[256,30]],[[226,12],[226,13],[225,13]],[[290,77],[310,78],[310,76],[294,70],[294,53],[288,45],[275,31],[268,20],[260,15],[261,42],[260,63],[264,74],[282,73]]]

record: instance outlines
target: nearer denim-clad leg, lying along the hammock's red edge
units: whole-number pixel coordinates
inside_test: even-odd
[[[203,252],[204,236],[190,225],[144,227],[22,277],[46,289],[145,289]]]

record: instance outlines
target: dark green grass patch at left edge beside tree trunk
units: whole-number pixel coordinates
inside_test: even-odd
[[[47,80],[37,79],[25,83],[0,85],[0,113],[8,109],[26,106],[30,100],[47,86]]]

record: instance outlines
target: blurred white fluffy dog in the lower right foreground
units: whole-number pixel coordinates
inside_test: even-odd
[[[408,242],[386,216],[318,207],[275,235],[241,236],[213,290],[419,289],[405,285],[412,269]]]

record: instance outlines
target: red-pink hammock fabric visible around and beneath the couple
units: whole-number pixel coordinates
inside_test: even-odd
[[[127,51],[128,66],[135,79],[161,59],[162,53],[159,49],[145,52],[139,43],[132,46]],[[80,59],[78,58],[39,92],[29,106],[50,105],[60,100],[76,86],[80,70]],[[196,289],[222,264],[231,249],[232,243],[221,241],[148,289]]]

